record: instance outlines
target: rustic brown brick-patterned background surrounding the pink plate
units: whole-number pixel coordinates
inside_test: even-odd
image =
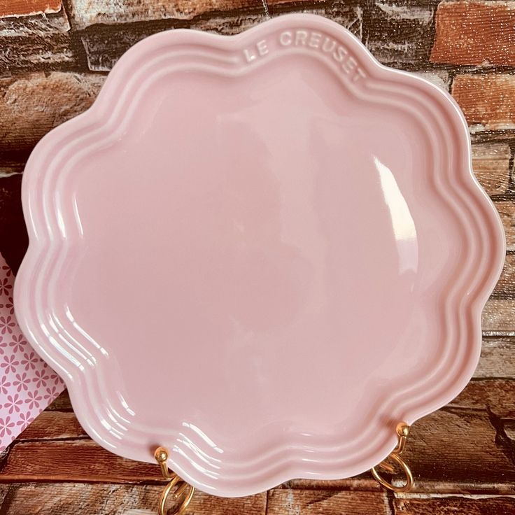
[[[284,12],[324,14],[384,64],[449,90],[470,124],[474,171],[505,224],[507,260],[486,305],[481,362],[463,393],[414,424],[414,490],[369,473],[290,481],[249,498],[197,493],[190,514],[515,514],[515,1],[0,0],[0,252],[27,246],[20,180],[31,148],[85,110],[130,45],[193,27],[234,34]],[[337,409],[337,407],[334,407]],[[85,435],[66,393],[0,456],[0,515],[154,510],[157,465],[111,455]]]

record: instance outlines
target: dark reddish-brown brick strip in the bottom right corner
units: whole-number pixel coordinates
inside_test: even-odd
[[[515,513],[515,498],[496,495],[473,497],[452,495],[437,498],[396,496],[394,514],[402,515],[509,515]]]

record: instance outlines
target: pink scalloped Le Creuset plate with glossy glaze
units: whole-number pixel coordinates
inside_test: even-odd
[[[23,204],[17,317],[80,423],[224,496],[363,472],[455,397],[505,251],[451,97],[313,15],[138,43]]]

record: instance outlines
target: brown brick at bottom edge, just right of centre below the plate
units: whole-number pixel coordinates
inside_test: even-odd
[[[267,515],[390,515],[385,492],[271,490]]]

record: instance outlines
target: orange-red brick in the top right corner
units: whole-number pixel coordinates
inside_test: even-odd
[[[515,64],[515,1],[444,1],[431,61]]]

